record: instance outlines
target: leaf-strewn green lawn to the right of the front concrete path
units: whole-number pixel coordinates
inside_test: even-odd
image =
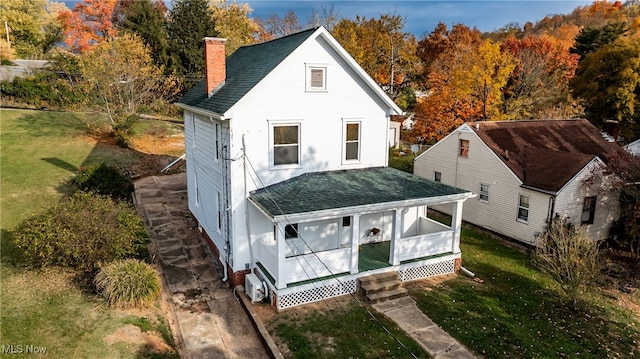
[[[638,358],[640,312],[595,293],[582,309],[561,303],[552,282],[526,254],[465,229],[460,275],[437,287],[411,289],[419,308],[486,358]],[[622,295],[622,294],[620,294]],[[634,298],[640,303],[640,293]]]

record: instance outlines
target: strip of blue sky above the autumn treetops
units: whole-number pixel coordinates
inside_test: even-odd
[[[242,1],[238,1],[242,2]],[[584,0],[397,0],[397,1],[244,1],[253,9],[252,16],[267,18],[272,14],[282,16],[293,9],[301,23],[305,24],[311,15],[311,9],[320,10],[324,4],[334,9],[340,17],[353,19],[355,15],[367,18],[393,13],[405,18],[405,30],[421,38],[443,22],[449,28],[462,23],[468,27],[477,27],[480,31],[493,31],[509,23],[524,25],[527,21],[535,23],[547,15],[568,14],[578,6],[589,5],[593,1]]]

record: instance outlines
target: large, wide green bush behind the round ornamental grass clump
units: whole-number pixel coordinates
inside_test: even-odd
[[[13,239],[28,265],[95,273],[102,263],[146,254],[148,236],[129,204],[76,192],[26,219],[14,230]]]

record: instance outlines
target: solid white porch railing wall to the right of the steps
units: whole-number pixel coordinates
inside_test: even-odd
[[[417,235],[398,240],[400,261],[451,252],[453,230],[450,227],[425,217],[418,218],[417,222]]]

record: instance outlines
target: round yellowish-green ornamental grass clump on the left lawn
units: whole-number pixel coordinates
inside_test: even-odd
[[[160,277],[150,265],[137,259],[109,263],[95,279],[98,291],[113,307],[145,307],[160,294]]]

